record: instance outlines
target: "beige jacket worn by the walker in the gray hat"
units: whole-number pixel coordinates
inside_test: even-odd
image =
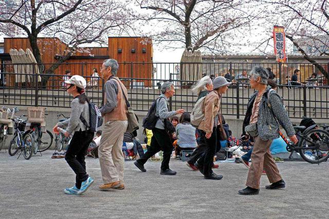
[[[205,99],[205,118],[201,121],[198,129],[206,133],[212,132],[214,117],[217,116],[220,106],[220,94],[217,91],[210,92]]]

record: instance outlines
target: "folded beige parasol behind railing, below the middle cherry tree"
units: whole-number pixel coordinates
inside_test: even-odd
[[[202,57],[200,51],[185,50],[180,59],[180,79],[198,81],[202,78]]]

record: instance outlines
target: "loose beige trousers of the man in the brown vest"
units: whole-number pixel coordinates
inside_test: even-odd
[[[123,184],[124,156],[123,134],[128,121],[109,121],[102,129],[98,148],[99,163],[104,184],[120,181]]]

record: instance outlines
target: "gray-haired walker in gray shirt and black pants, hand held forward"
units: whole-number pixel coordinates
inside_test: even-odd
[[[163,120],[172,117],[177,114],[184,113],[184,109],[179,109],[176,111],[168,110],[168,99],[175,94],[174,85],[172,82],[165,82],[161,86],[161,95],[155,100],[156,102],[156,112],[155,116],[158,117],[155,127],[152,129],[153,136],[151,139],[151,145],[148,151],[137,161],[135,161],[135,166],[142,172],[146,172],[144,164],[152,157],[154,154],[163,151],[163,160],[161,164],[161,175],[176,175],[176,171],[169,168],[170,156],[173,151],[173,145],[169,134],[165,130],[165,124]]]

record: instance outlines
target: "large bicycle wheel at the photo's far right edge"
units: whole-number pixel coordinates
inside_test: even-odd
[[[329,157],[329,133],[322,129],[312,129],[303,135],[311,140],[313,144],[303,138],[299,143],[301,157],[308,163],[317,164],[328,160]],[[316,148],[314,148],[317,146]],[[313,148],[309,148],[313,147]],[[317,150],[318,149],[318,150]]]

